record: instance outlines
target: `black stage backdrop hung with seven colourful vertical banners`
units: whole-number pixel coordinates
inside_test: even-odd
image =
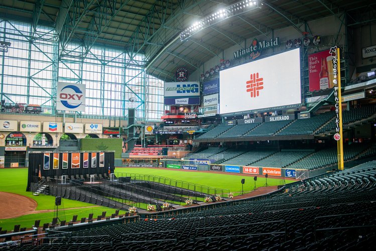
[[[26,191],[31,191],[31,183],[41,176],[54,178],[62,175],[104,174],[114,172],[114,151],[74,151],[74,152],[29,152],[28,184]]]

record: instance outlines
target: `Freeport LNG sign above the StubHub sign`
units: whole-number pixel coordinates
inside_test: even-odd
[[[200,96],[199,82],[166,82],[165,97],[194,97]]]

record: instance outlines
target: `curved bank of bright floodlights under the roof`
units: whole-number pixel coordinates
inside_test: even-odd
[[[185,41],[195,33],[219,23],[222,20],[255,10],[256,8],[261,8],[260,0],[244,0],[220,9],[184,29],[180,33],[180,40]]]

